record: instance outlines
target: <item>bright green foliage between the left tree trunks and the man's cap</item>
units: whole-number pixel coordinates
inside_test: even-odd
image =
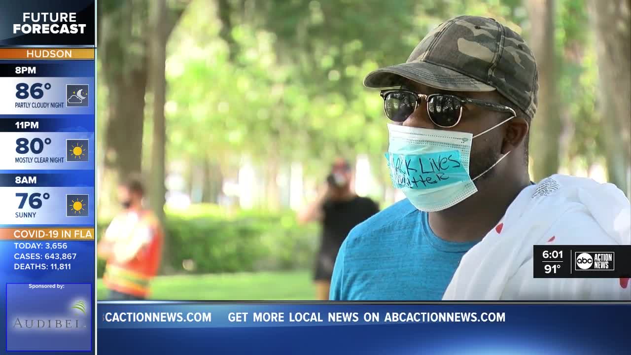
[[[211,155],[229,166],[241,153],[266,162],[278,156],[316,173],[337,154],[380,156],[382,101],[363,88],[363,76],[405,61],[452,14],[511,16],[517,5],[195,2],[170,47],[169,157]],[[203,21],[209,16],[215,20]]]

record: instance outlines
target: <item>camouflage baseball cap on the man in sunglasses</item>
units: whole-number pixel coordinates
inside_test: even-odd
[[[520,35],[492,18],[459,16],[441,23],[406,63],[377,69],[363,83],[393,87],[402,78],[442,90],[497,90],[531,118],[537,109],[534,55]]]

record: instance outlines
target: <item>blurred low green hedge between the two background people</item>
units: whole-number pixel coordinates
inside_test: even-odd
[[[292,211],[240,211],[215,205],[166,210],[168,258],[175,272],[218,273],[310,268],[319,243],[317,226],[300,226]],[[98,236],[108,221],[98,224]],[[105,262],[98,262],[101,277]]]

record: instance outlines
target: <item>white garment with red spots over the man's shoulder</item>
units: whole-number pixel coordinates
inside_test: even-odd
[[[444,300],[629,300],[628,279],[534,279],[533,245],[631,244],[631,205],[613,184],[553,175],[519,193],[462,258]]]

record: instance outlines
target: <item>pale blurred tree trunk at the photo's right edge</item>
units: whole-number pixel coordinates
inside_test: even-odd
[[[608,180],[631,197],[631,0],[591,0]]]

